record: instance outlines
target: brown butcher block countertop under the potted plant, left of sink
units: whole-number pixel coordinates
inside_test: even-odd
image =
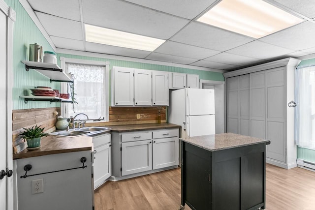
[[[58,154],[74,151],[92,151],[92,137],[78,136],[78,137],[62,137],[49,135],[42,137],[40,144],[41,148],[38,150],[23,150],[20,153],[13,154],[13,159],[28,158],[35,156],[42,156],[48,154]]]

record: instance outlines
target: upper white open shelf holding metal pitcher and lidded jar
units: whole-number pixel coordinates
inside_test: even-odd
[[[50,78],[50,82],[67,82],[73,83],[71,76],[63,72],[57,64],[54,63],[45,63],[45,62],[35,62],[35,61],[22,61],[25,64],[26,71],[34,69],[39,73]]]

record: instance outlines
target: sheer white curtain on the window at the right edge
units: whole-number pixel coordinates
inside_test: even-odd
[[[315,66],[297,68],[295,85],[296,144],[315,150]]]

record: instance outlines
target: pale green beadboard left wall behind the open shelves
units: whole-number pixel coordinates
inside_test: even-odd
[[[35,86],[49,86],[59,89],[59,83],[50,83],[50,80],[35,70],[27,72],[22,60],[29,60],[29,45],[37,43],[43,46],[44,51],[53,51],[43,34],[32,21],[31,17],[18,0],[5,0],[16,12],[16,21],[13,31],[13,109],[31,109],[55,107],[57,104],[49,102],[31,101],[28,104],[20,99],[26,90]],[[58,104],[59,105],[59,104]]]

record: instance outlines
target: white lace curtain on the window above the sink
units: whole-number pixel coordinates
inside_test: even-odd
[[[66,116],[84,113],[89,119],[105,116],[105,66],[66,63],[66,72],[74,75],[74,98],[78,103],[66,104]],[[70,90],[69,90],[70,92]]]

